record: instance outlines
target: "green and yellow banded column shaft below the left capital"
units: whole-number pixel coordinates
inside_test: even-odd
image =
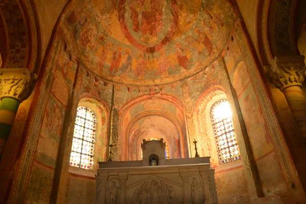
[[[18,100],[10,97],[3,98],[0,103],[0,160],[9,139],[19,105]]]

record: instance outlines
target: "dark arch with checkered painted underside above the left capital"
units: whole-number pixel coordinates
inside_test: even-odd
[[[38,73],[41,64],[41,33],[36,7],[29,0],[9,1],[0,10],[3,27],[0,44],[2,67],[27,67]],[[35,16],[34,18],[31,16]],[[18,21],[18,23],[14,23]]]

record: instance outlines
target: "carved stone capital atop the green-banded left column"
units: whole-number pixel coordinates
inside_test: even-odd
[[[20,103],[31,95],[31,87],[37,80],[27,68],[1,68],[0,99],[15,98]]]

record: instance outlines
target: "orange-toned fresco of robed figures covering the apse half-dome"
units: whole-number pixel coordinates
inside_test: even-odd
[[[225,0],[74,1],[61,28],[99,77],[127,85],[188,78],[221,53],[234,27]]]

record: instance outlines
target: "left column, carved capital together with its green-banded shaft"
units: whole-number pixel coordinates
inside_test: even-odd
[[[0,160],[19,105],[30,96],[36,79],[36,74],[31,74],[27,68],[2,68],[0,71]]]

